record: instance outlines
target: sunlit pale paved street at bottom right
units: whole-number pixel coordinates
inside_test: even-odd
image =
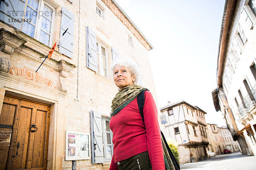
[[[181,170],[256,170],[256,156],[239,153],[217,155],[194,163],[181,164]]]

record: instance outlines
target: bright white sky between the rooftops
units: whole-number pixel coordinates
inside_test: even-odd
[[[226,125],[217,88],[218,44],[225,0],[116,0],[153,45],[148,51],[159,107],[185,100]]]

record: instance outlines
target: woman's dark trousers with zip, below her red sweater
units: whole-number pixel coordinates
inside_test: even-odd
[[[152,170],[148,151],[117,162],[119,170]]]

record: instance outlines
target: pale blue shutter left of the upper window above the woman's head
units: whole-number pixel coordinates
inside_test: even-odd
[[[87,68],[98,72],[96,33],[89,27],[86,27],[86,43]]]

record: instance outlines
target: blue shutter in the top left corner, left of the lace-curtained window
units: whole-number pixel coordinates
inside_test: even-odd
[[[5,0],[4,2],[2,1],[0,7],[0,20],[3,20],[5,23],[8,23],[10,25],[12,24],[12,26],[20,30],[22,22],[14,20],[23,19],[23,16],[25,14],[25,1],[26,0]]]

